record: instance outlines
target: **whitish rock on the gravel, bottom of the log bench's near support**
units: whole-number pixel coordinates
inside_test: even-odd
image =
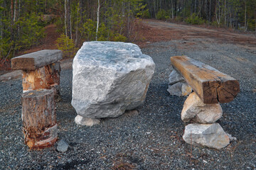
[[[222,149],[230,143],[230,138],[218,123],[189,124],[185,128],[183,140],[188,144],[203,145],[215,149]]]

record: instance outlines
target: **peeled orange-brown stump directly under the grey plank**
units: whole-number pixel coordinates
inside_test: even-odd
[[[23,70],[23,92],[38,89],[53,89],[55,100],[60,99],[60,62],[35,70]]]

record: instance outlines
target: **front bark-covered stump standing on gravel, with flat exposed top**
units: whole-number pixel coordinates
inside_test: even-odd
[[[21,101],[25,144],[31,149],[52,146],[58,136],[53,89],[28,91]]]

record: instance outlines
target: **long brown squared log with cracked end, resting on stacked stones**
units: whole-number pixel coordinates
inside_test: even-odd
[[[203,103],[228,103],[240,91],[238,80],[190,57],[171,57],[171,64]]]

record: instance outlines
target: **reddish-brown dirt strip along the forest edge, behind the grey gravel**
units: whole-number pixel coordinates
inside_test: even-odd
[[[231,43],[241,45],[250,50],[256,50],[255,33],[236,33],[233,30],[223,28],[202,28],[199,26],[181,25],[176,23],[166,23],[157,20],[142,21],[147,30],[144,37],[149,42],[161,40],[188,40],[191,38],[212,39],[219,43]]]

